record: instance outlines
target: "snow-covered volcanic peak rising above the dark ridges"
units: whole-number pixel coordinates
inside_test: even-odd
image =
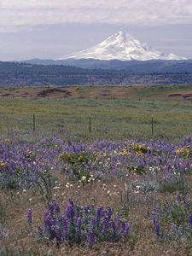
[[[148,60],[186,60],[186,58],[164,54],[148,47],[129,33],[120,31],[90,49],[84,49],[73,55],[67,55],[65,59],[98,59],[119,61],[148,61]]]

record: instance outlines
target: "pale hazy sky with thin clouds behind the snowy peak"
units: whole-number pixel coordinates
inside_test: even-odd
[[[0,60],[60,58],[119,30],[192,58],[192,0],[1,0]]]

